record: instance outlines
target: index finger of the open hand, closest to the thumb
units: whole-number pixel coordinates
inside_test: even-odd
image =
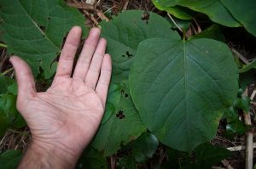
[[[55,78],[59,76],[69,77],[72,73],[73,59],[79,48],[79,42],[82,34],[82,29],[79,26],[74,26],[67,35],[67,40],[61,51],[61,57],[58,62]]]

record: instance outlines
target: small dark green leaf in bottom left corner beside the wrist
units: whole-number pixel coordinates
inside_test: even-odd
[[[22,157],[20,150],[8,150],[0,155],[0,168],[15,169],[17,168]]]

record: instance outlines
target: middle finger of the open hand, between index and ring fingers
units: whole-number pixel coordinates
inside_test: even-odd
[[[84,42],[84,47],[74,70],[73,78],[79,78],[84,81],[85,75],[87,74],[90,66],[90,60],[96,50],[100,34],[101,30],[99,28],[95,27],[90,30],[89,36]]]

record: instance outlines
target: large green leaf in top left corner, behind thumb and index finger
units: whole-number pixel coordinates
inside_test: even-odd
[[[73,25],[84,28],[83,15],[62,0],[1,0],[0,6],[3,41],[9,54],[25,59],[34,75],[41,66],[46,77],[52,76],[63,37]]]

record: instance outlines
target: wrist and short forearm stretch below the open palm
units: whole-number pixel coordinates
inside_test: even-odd
[[[33,143],[27,149],[18,169],[72,169],[79,155],[72,155],[56,146]]]

